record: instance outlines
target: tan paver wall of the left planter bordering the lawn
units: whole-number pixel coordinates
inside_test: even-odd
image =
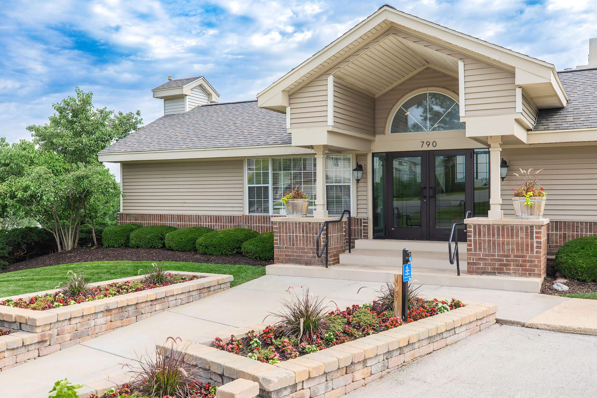
[[[223,291],[230,287],[233,279],[231,275],[223,274],[171,272],[196,275],[200,278],[45,311],[0,306],[0,328],[13,331],[11,334],[0,336],[0,370],[4,371],[36,357],[83,343],[112,329],[150,317],[166,308],[180,306]],[[103,286],[113,282],[141,279],[143,276],[134,276],[90,285]],[[7,298],[30,298],[57,290],[5,297],[0,298],[0,301]]]

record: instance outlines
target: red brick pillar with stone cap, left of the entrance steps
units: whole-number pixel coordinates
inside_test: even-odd
[[[275,264],[301,264],[303,266],[325,266],[325,252],[321,258],[316,255],[316,239],[319,230],[328,218],[273,217],[273,262]],[[337,218],[331,218],[337,220]],[[338,264],[340,253],[346,250],[344,232],[346,221],[328,225],[328,264]],[[326,239],[325,229],[319,248]]]

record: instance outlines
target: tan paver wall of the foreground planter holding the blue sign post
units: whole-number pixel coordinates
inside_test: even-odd
[[[261,398],[336,398],[493,325],[496,313],[496,305],[469,304],[275,365],[199,343],[186,357],[214,385],[257,382]]]

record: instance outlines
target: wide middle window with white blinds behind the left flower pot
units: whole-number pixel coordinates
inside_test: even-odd
[[[295,187],[303,190],[309,198],[309,212],[315,206],[316,165],[314,156],[294,156],[292,158],[272,158],[272,199],[273,214],[284,214],[284,204],[280,202]]]

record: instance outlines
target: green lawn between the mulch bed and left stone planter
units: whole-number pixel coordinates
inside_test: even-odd
[[[94,261],[92,263],[61,264],[0,274],[0,297],[39,292],[56,288],[69,270],[87,277],[88,282],[136,276],[139,269],[147,270],[154,261]],[[265,267],[227,266],[222,264],[158,262],[167,270],[208,272],[234,276],[230,286],[240,285],[265,274]]]

